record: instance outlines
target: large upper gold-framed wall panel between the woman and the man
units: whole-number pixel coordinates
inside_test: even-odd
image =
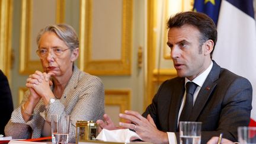
[[[130,75],[133,1],[80,2],[79,68],[93,75]]]

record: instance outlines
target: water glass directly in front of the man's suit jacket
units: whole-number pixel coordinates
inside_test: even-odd
[[[201,122],[180,121],[180,143],[201,143]]]

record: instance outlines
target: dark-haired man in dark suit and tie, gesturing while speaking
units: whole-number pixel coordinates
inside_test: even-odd
[[[135,130],[146,142],[177,143],[179,121],[201,121],[201,143],[220,133],[237,141],[237,127],[249,124],[252,87],[247,79],[220,68],[212,60],[217,41],[215,23],[205,14],[181,12],[167,25],[167,44],[178,77],[161,85],[142,115],[136,111],[120,114],[132,122],[120,122],[120,126]],[[192,98],[185,91],[190,82],[195,87]],[[191,108],[187,108],[190,104]],[[100,126],[113,129],[110,117],[104,118],[106,123],[97,121]]]

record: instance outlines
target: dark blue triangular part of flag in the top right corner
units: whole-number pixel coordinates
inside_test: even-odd
[[[245,12],[245,14],[249,15],[250,17],[254,18],[254,8],[253,8],[253,0],[226,0],[231,3],[236,8],[239,8],[241,11]]]

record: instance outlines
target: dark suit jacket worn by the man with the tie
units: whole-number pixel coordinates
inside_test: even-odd
[[[151,114],[158,130],[175,132],[178,143],[177,119],[185,92],[184,83],[185,78],[179,77],[165,81],[142,114],[144,117]],[[213,61],[213,68],[197,95],[188,121],[202,122],[201,143],[220,133],[226,139],[237,141],[237,128],[249,124],[251,103],[251,83]]]

